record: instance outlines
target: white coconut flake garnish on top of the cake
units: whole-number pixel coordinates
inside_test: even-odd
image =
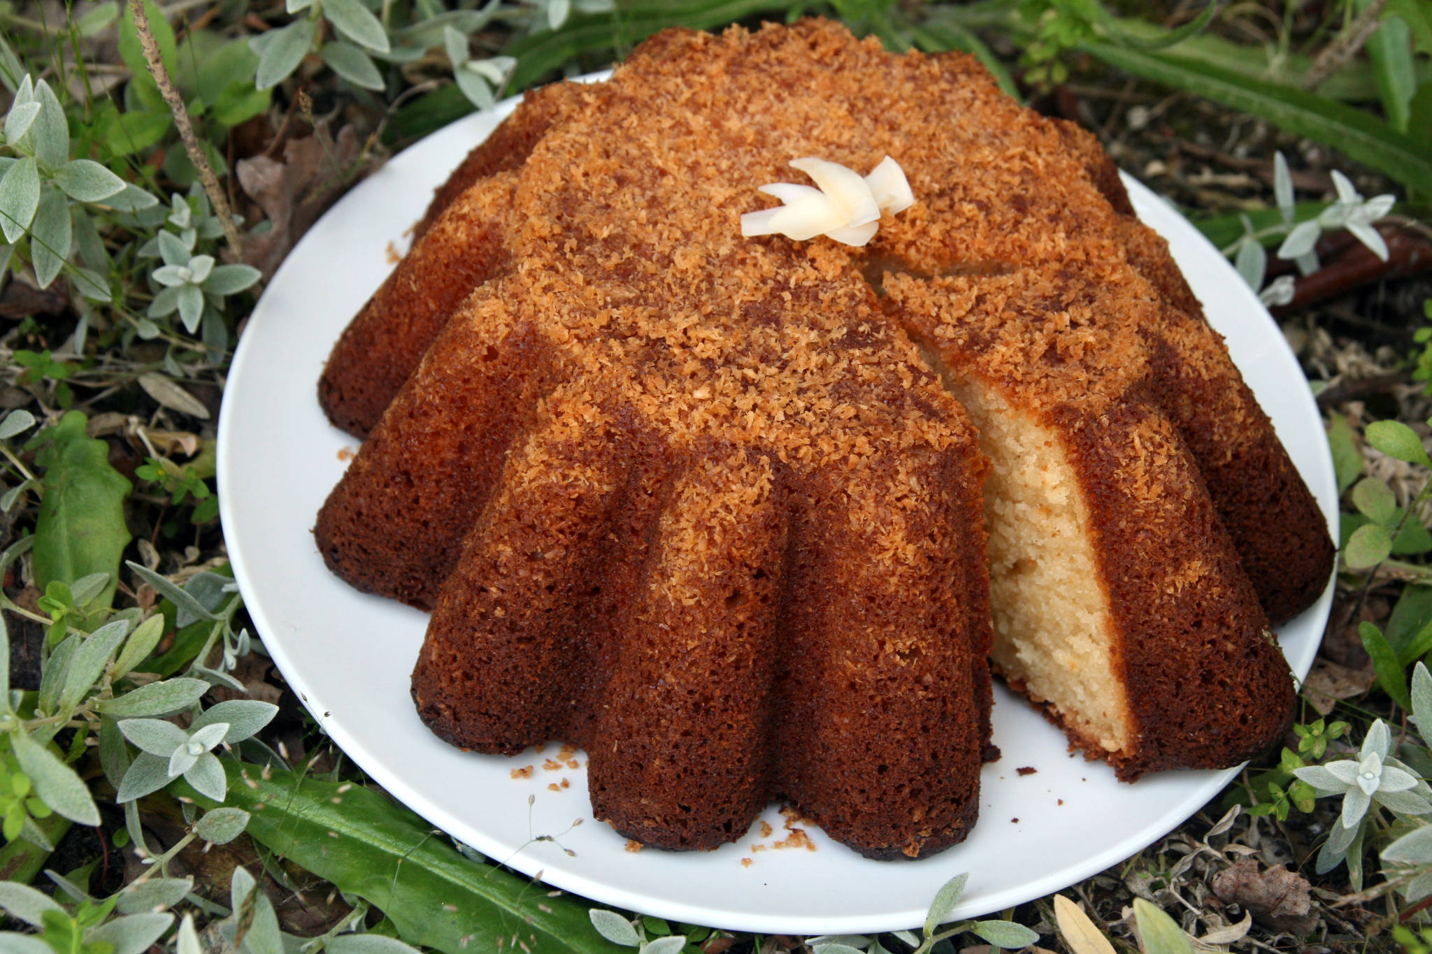
[[[861,246],[879,229],[881,212],[895,215],[915,203],[905,172],[889,156],[869,176],[813,156],[796,159],[790,166],[811,176],[816,187],[793,182],[760,186],[759,192],[775,196],[782,205],[743,215],[743,236],[779,233],[805,242],[823,235]]]

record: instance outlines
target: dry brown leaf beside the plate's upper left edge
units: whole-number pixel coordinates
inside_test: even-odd
[[[268,156],[242,159],[235,166],[239,185],[272,223],[272,229],[243,236],[243,260],[268,280],[308,227],[318,220],[355,179],[358,134],[352,126],[338,130],[334,140],[328,124],[319,123],[312,136],[284,144],[284,162]]]

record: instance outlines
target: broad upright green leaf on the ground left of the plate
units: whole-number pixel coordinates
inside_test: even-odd
[[[109,445],[84,435],[86,418],[70,410],[27,443],[39,448],[44,496],[34,526],[34,578],[73,582],[87,574],[110,574],[97,601],[107,609],[119,585],[119,559],[129,544],[125,525],[126,481],[109,463]]]

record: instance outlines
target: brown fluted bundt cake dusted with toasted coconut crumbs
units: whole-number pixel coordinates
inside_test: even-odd
[[[891,156],[916,203],[743,237],[803,156]],[[1120,778],[1236,764],[1292,712],[1269,618],[1332,569],[1093,137],[825,21],[530,93],[319,399],[367,441],[318,545],[432,612],[422,719],[581,745],[594,814],[666,848],[772,798],[875,858],[959,841],[987,654]]]

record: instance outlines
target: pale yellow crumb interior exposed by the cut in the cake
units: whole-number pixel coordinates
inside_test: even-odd
[[[1051,707],[1085,747],[1127,751],[1133,732],[1108,595],[1064,443],[992,388],[948,375],[945,383],[991,463],[984,511],[995,671]]]

